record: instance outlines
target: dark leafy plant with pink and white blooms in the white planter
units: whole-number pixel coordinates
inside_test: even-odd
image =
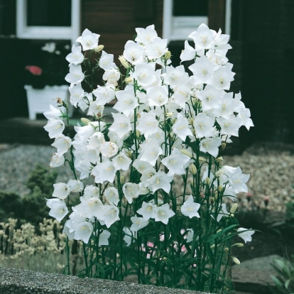
[[[26,85],[42,89],[45,85],[65,85],[68,64],[65,57],[70,53],[70,45],[45,43],[40,52],[33,56],[31,65],[25,67]]]

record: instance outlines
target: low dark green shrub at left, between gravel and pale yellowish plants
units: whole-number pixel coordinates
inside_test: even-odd
[[[16,193],[0,192],[1,222],[6,222],[11,217],[20,223],[30,222],[38,226],[45,217],[48,218],[49,209],[45,205],[45,199],[52,196],[56,178],[56,172],[49,173],[46,168],[38,165],[28,179],[30,194],[21,197]]]

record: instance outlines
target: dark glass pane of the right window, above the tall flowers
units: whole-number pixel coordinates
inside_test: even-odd
[[[173,0],[173,16],[208,16],[208,0]]]

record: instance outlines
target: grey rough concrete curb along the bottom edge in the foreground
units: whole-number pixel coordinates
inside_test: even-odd
[[[0,268],[1,294],[205,294],[94,278]]]

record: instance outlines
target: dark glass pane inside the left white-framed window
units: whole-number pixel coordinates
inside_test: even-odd
[[[71,26],[72,0],[27,0],[28,26]]]

